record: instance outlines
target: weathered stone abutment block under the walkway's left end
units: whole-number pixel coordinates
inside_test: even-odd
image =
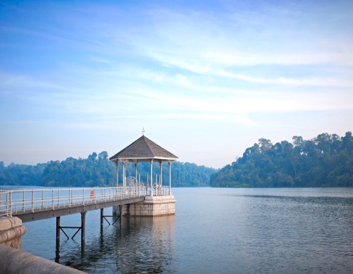
[[[27,229],[18,217],[0,217],[0,244],[21,250],[22,235]]]

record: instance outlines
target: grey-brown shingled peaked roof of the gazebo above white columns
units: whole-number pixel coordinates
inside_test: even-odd
[[[152,142],[146,136],[141,136],[126,148],[110,157],[112,161],[151,161],[151,160],[177,160],[178,158],[161,146]]]

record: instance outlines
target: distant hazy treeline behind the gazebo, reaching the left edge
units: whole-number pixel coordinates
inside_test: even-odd
[[[137,165],[141,182],[151,180],[150,163]],[[216,172],[213,168],[198,166],[194,163],[172,163],[172,186],[209,186],[210,175]],[[159,176],[160,165],[153,163],[153,181]],[[126,177],[135,176],[135,165],[126,165]],[[119,184],[122,185],[122,163],[119,166]],[[158,179],[159,180],[159,179]],[[169,185],[169,165],[162,164],[162,184]],[[108,159],[103,151],[92,153],[87,159],[72,157],[63,161],[50,161],[35,166],[11,163],[5,167],[0,162],[0,185],[38,185],[38,186],[115,186],[116,164]]]

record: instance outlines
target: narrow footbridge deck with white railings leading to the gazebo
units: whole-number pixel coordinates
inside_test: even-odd
[[[0,192],[0,217],[30,222],[141,202],[146,196],[169,195],[169,186],[152,190],[145,186],[5,190]]]

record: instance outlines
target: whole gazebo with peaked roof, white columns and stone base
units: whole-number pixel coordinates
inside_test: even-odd
[[[162,148],[158,144],[142,135],[136,141],[126,148],[109,158],[117,166],[117,186],[119,182],[119,163],[123,166],[123,187],[146,187],[149,189],[149,195],[145,201],[127,204],[119,208],[121,215],[130,216],[159,216],[175,214],[176,200],[172,196],[171,183],[171,164],[178,158]],[[126,164],[133,162],[135,165],[135,177],[126,178]],[[147,176],[147,182],[141,183],[140,176],[137,175],[137,165],[140,162],[149,162],[151,165],[151,175]],[[153,162],[159,162],[159,180],[153,182]],[[169,186],[162,186],[162,164],[169,163]],[[113,207],[113,213],[116,214],[118,208]]]

